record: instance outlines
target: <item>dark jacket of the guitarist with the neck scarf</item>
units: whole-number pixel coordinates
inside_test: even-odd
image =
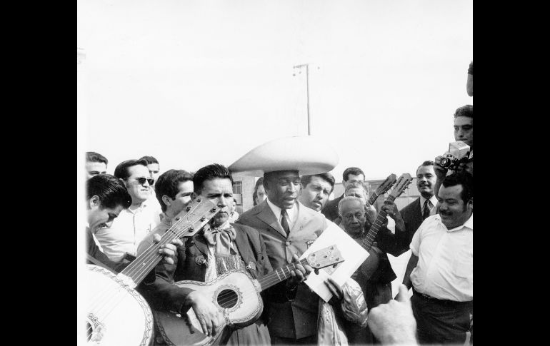
[[[253,278],[260,278],[273,269],[269,264],[264,241],[259,233],[244,225],[231,224],[236,230],[235,245],[242,260],[249,265],[248,272]],[[140,244],[141,248],[141,244]],[[189,288],[179,288],[174,282],[180,280],[195,280],[204,282],[206,265],[204,261],[197,260],[199,256],[208,259],[208,243],[202,233],[186,238],[184,246],[178,248],[176,260],[173,265],[156,265],[156,280],[153,283],[141,283],[138,291],[145,297],[149,305],[155,310],[183,312],[184,301],[192,292]],[[182,311],[182,308],[184,310]]]

